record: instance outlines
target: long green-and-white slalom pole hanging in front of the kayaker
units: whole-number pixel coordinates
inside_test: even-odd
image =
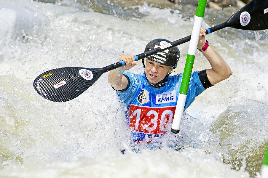
[[[186,64],[183,71],[182,83],[180,86],[180,93],[178,96],[178,101],[176,105],[176,111],[174,114],[173,124],[171,127],[171,132],[179,133],[180,132],[180,123],[184,111],[184,105],[186,102],[186,96],[189,88],[191,73],[194,65],[194,57],[197,50],[197,44],[199,40],[199,34],[203,22],[203,17],[205,13],[207,0],[199,0],[197,6],[197,12],[194,20],[194,27],[191,35],[190,45],[188,49],[188,54],[186,58]]]

